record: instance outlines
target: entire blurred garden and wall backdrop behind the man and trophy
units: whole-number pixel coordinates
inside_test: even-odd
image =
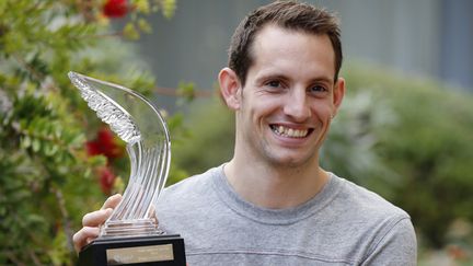
[[[172,132],[169,184],[230,159],[216,91],[263,0],[0,3],[0,264],[73,265],[85,212],[123,192],[125,144],[69,70],[131,88]],[[308,1],[339,14],[348,95],[322,164],[405,209],[419,265],[473,265],[473,2]]]

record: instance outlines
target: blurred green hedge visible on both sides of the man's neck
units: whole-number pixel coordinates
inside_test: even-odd
[[[322,165],[406,210],[422,243],[452,243],[451,224],[473,221],[473,96],[358,65],[347,66],[344,77],[348,95],[323,147]],[[200,104],[191,113],[194,135],[174,154],[194,174],[227,161],[234,134],[222,105]],[[473,246],[473,238],[462,241]]]

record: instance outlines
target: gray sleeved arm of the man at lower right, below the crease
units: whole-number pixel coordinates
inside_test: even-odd
[[[411,220],[400,220],[361,265],[417,265],[417,240]]]

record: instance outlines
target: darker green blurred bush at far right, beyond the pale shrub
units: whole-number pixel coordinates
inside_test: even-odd
[[[443,245],[452,222],[473,221],[472,95],[372,69],[350,69],[348,77],[354,88],[371,88],[397,114],[400,123],[379,136],[376,148],[402,176],[390,198],[412,216],[429,244]]]

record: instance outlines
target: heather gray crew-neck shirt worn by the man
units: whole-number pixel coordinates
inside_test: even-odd
[[[164,189],[161,228],[184,238],[195,265],[416,265],[408,215],[331,174],[312,199],[290,209],[243,200],[223,167]]]

